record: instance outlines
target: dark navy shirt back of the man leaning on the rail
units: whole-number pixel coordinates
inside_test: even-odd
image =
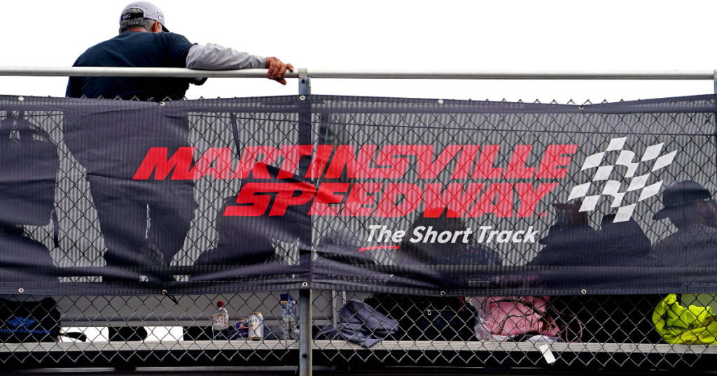
[[[75,67],[186,67],[192,44],[180,34],[124,32],[96,44],[80,55]],[[114,98],[161,101],[179,100],[189,88],[187,78],[72,77],[67,97]]]

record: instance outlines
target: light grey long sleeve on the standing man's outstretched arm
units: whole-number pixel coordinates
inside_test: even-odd
[[[264,57],[212,43],[195,44],[186,55],[186,67],[192,69],[263,68],[265,64]]]

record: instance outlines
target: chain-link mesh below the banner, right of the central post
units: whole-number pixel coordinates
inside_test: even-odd
[[[536,304],[538,299],[540,303]],[[667,343],[660,337],[652,322],[660,299],[663,296],[427,298],[315,291],[314,362],[355,367],[450,365],[572,370],[710,365],[714,351],[705,342],[689,344],[689,334],[684,337],[687,342],[679,344]],[[685,294],[682,299],[685,305],[717,305],[713,294]],[[370,304],[372,308],[348,309],[351,301]],[[699,307],[695,312],[711,314],[711,308]],[[680,317],[688,320],[690,314]],[[376,324],[386,320],[390,325],[396,324],[394,329],[386,331]],[[486,324],[495,320],[503,326]],[[346,329],[352,322],[368,324],[359,331],[361,335],[351,330],[344,334],[326,330],[332,326]],[[694,336],[702,336],[707,343],[713,341],[717,328],[711,325],[706,332],[702,330],[695,327]],[[376,343],[366,341],[367,337],[373,337]],[[550,355],[544,355],[546,351]],[[556,360],[551,362],[550,357]]]

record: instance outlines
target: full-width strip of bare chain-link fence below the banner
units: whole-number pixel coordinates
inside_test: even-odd
[[[182,296],[176,297],[176,302],[154,296],[4,299],[0,312],[11,312],[18,320],[34,317],[57,322],[60,335],[15,334],[0,347],[0,359],[8,367],[298,365],[299,339],[286,335],[279,295],[277,291]],[[584,370],[708,367],[713,362],[711,346],[668,344],[656,332],[652,312],[662,296],[551,297],[544,302],[541,308],[545,312],[540,314],[533,309],[517,310],[515,305],[505,304],[511,301],[506,297],[428,298],[314,291],[313,298],[315,365],[557,366]],[[512,299],[528,307],[526,297]],[[697,299],[698,304],[715,305],[713,295],[683,296],[683,302]],[[378,312],[377,320],[386,320],[384,315],[396,317],[397,325],[389,335],[379,328],[364,331],[360,337],[351,332],[346,336],[326,335],[326,327],[342,327],[359,320],[371,322],[360,310],[342,311],[352,300],[372,304]],[[231,330],[212,329],[218,301],[226,302],[231,312]],[[500,301],[503,304],[496,303]],[[477,302],[482,305],[476,307]],[[264,316],[261,339],[248,339],[247,333],[234,330],[235,323],[254,312]],[[526,320],[531,325],[521,334],[512,335],[493,334],[480,326],[483,320],[505,318],[508,314],[516,323]],[[553,324],[558,329],[549,329]],[[7,322],[3,329],[22,325]],[[695,328],[695,335],[700,335],[699,331]],[[702,334],[703,339],[705,335],[714,336],[713,329],[708,331]],[[373,344],[366,340],[370,337],[381,340]],[[550,359],[543,355],[544,344],[549,344],[556,364],[549,363]]]

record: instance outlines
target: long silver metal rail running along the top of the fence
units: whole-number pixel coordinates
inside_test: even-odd
[[[287,78],[331,79],[715,79],[716,70],[339,70],[300,68]],[[0,76],[263,78],[267,69],[199,70],[143,67],[0,67]]]

